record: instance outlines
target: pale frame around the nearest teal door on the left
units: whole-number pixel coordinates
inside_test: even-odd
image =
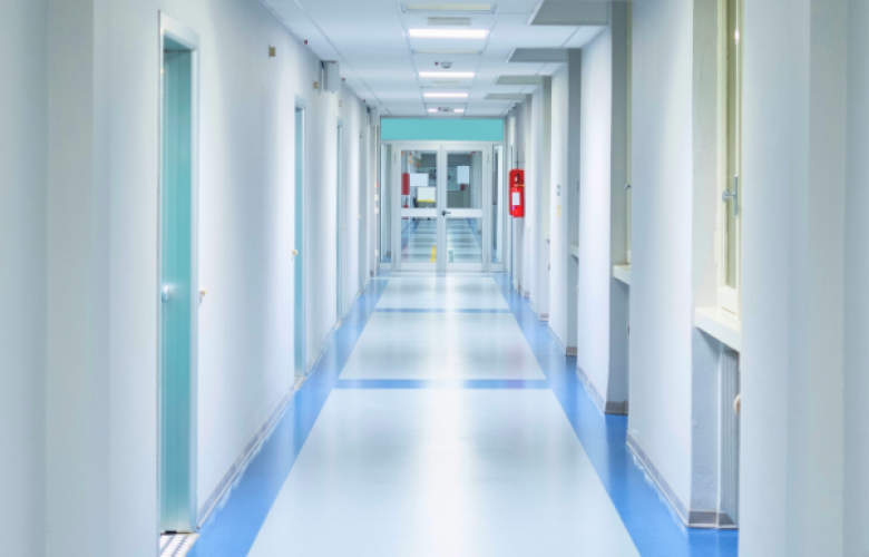
[[[198,509],[196,508],[196,447],[197,447],[197,379],[198,379],[198,311],[202,299],[202,292],[198,289],[198,260],[199,260],[199,36],[189,27],[173,19],[165,12],[159,12],[159,91],[158,91],[158,124],[157,124],[157,145],[158,145],[158,177],[157,177],[157,198],[158,198],[158,228],[157,228],[157,284],[159,285],[156,293],[157,305],[157,436],[159,443],[157,447],[157,462],[159,480],[157,482],[157,500],[159,512],[159,528],[164,529],[164,516],[163,516],[163,457],[164,457],[164,436],[163,436],[163,379],[164,379],[164,365],[163,365],[163,120],[165,104],[163,99],[164,75],[163,68],[165,67],[165,39],[169,38],[175,42],[178,42],[191,50],[191,329],[189,329],[189,397],[187,399],[188,405],[186,408],[179,408],[178,412],[188,413],[188,428],[186,436],[182,438],[186,441],[186,450],[188,451],[187,460],[187,522],[179,524],[175,528],[175,531],[196,531],[198,528]],[[183,450],[183,449],[182,449]]]

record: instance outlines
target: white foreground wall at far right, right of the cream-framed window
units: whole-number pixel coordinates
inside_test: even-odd
[[[851,21],[858,29],[852,49],[862,43],[859,26],[866,21],[859,3],[851,2],[861,18]],[[846,206],[865,195],[855,182],[846,198],[846,138],[855,141],[849,153],[863,147],[858,121],[846,135],[849,117],[863,116],[863,99],[849,98],[846,89],[847,6],[844,0],[745,4],[742,556],[842,555],[844,505],[852,509],[855,498],[866,495],[861,481],[843,482],[844,451],[853,465],[866,447],[863,436],[852,438],[849,449],[842,438],[862,426],[858,419],[844,429],[843,403],[861,393],[844,398],[843,341],[858,343],[846,344],[846,358],[855,363],[862,363],[850,358],[865,344],[856,338],[861,323],[853,313],[865,312],[859,294],[865,284],[846,290],[857,276],[843,272],[859,272],[865,245],[863,237],[849,236],[857,252],[846,267],[846,215],[849,232],[861,229]],[[851,91],[866,78],[863,60],[862,51],[851,59]],[[848,101],[855,102],[850,114]],[[862,179],[853,174],[862,158],[849,160],[849,179]],[[855,296],[848,313],[846,293]],[[855,326],[847,335],[846,324]],[[849,371],[853,381],[856,370]],[[857,373],[865,377],[865,368]],[[848,504],[843,490],[853,490]],[[862,544],[851,530],[846,555],[865,554]]]

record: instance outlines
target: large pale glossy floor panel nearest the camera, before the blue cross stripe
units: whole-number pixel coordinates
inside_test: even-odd
[[[336,390],[252,557],[634,557],[547,390]]]

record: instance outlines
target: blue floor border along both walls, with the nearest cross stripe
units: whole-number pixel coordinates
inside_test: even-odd
[[[507,275],[491,276],[546,380],[339,380],[388,281],[370,281],[274,430],[199,531],[192,557],[245,557],[333,389],[551,389],[643,557],[736,557],[733,530],[685,528],[626,446],[627,418],[603,414],[576,375],[576,359],[555,345],[545,323]],[[426,310],[430,312],[430,310]],[[484,310],[484,312],[489,312]],[[473,312],[468,312],[473,313]]]

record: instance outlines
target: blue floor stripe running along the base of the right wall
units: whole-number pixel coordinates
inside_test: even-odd
[[[627,449],[627,417],[601,412],[576,374],[576,358],[551,356],[555,342],[507,275],[496,276],[558,402],[643,557],[736,557],[735,530],[685,528]]]

